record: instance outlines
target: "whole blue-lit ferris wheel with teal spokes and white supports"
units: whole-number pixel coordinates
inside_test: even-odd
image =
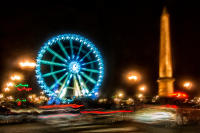
[[[80,35],[53,37],[38,53],[38,83],[48,96],[62,103],[76,97],[97,97],[103,75],[100,52]]]

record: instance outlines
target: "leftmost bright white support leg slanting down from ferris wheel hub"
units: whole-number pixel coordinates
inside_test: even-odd
[[[67,75],[65,81],[63,82],[63,85],[61,86],[59,98],[63,98],[66,95],[71,78],[72,74],[70,73]]]

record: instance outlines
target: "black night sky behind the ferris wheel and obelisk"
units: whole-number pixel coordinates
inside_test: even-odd
[[[108,2],[109,1],[109,2]],[[139,0],[138,0],[139,1]],[[77,33],[93,41],[105,62],[103,94],[130,86],[123,81],[128,70],[139,71],[151,92],[157,92],[160,15],[167,5],[171,15],[171,42],[176,89],[185,79],[200,81],[200,9],[196,0],[111,0],[1,4],[1,86],[16,61],[36,58],[42,44],[54,35]],[[32,84],[34,72],[26,72]],[[34,86],[34,85],[33,85]]]

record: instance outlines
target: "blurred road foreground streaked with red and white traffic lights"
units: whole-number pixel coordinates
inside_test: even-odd
[[[36,114],[24,112],[36,110]],[[200,110],[174,106],[145,106],[137,111],[57,108],[12,112],[0,115],[0,133],[200,132]]]

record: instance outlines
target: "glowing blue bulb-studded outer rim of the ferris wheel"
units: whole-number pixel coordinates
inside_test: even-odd
[[[99,87],[102,83],[103,76],[104,76],[103,59],[102,59],[102,56],[101,56],[99,50],[95,47],[95,45],[92,42],[90,42],[88,39],[84,38],[83,36],[80,36],[80,35],[77,35],[77,34],[58,35],[58,36],[53,37],[52,39],[49,39],[46,43],[44,43],[44,45],[40,49],[40,51],[38,53],[38,57],[36,59],[37,60],[36,77],[37,77],[37,80],[38,80],[40,87],[44,90],[45,93],[47,93],[47,95],[49,95],[49,96],[55,95],[55,92],[50,90],[48,88],[48,86],[46,85],[44,78],[42,76],[42,73],[41,73],[40,65],[41,65],[42,57],[47,50],[48,51],[50,50],[50,52],[54,52],[53,50],[50,49],[50,46],[56,45],[59,41],[62,41],[62,40],[77,41],[77,42],[81,43],[80,47],[82,47],[82,45],[87,46],[89,49],[91,49],[91,52],[95,55],[97,62],[98,62],[98,65],[99,65],[99,76],[98,76],[98,80],[97,80],[95,86],[90,91],[89,95],[93,95],[93,94],[96,95],[96,93],[98,92],[98,89],[99,89]],[[64,52],[63,49],[62,49],[62,51]],[[78,58],[78,55],[77,55],[76,58]],[[67,57],[67,59],[65,59],[63,61],[67,62],[67,60],[69,60],[69,56]],[[82,61],[82,59],[80,61]],[[87,63],[90,63],[90,62],[87,62]],[[82,65],[87,65],[87,63],[83,63]],[[59,65],[61,65],[61,64],[59,64]],[[82,68],[82,69],[84,70],[84,68]],[[85,69],[85,70],[87,71],[88,69]],[[82,74],[82,73],[80,73],[80,74]],[[67,75],[69,75],[69,73],[67,73]],[[70,78],[72,78],[72,76],[70,76]]]

